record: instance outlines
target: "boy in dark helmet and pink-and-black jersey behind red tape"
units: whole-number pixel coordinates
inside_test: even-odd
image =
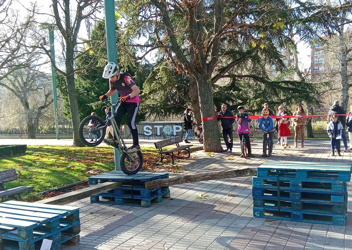
[[[249,139],[249,130],[252,128],[252,120],[251,120],[249,114],[244,112],[244,106],[242,106],[242,105],[238,106],[237,110],[239,112],[239,114],[237,115],[238,138],[240,139],[240,143],[242,143],[242,137],[244,136],[244,140],[246,142],[247,149],[248,149],[248,156],[247,157],[255,157],[252,154],[251,141]],[[241,157],[243,158],[243,154],[241,154]]]

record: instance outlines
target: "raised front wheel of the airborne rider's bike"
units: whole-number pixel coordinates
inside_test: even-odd
[[[105,137],[106,126],[102,118],[90,115],[84,118],[78,129],[78,134],[84,145],[94,147],[99,145]]]

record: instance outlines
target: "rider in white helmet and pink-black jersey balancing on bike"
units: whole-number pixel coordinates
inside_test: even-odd
[[[120,106],[116,110],[115,121],[120,128],[121,117],[127,113],[127,125],[130,128],[133,145],[127,153],[133,153],[140,150],[138,142],[138,131],[134,121],[136,119],[137,111],[139,108],[139,87],[134,82],[132,75],[128,73],[120,73],[120,68],[114,62],[109,62],[102,75],[103,78],[109,79],[109,91],[99,97],[100,100],[112,96],[116,90],[120,94]],[[117,147],[117,138],[114,135],[113,140],[104,139],[108,145]]]

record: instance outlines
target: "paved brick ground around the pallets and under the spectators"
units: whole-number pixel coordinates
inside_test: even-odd
[[[255,167],[268,159],[351,160],[351,153],[329,156],[328,140],[306,141],[304,148],[288,150],[276,146],[270,158],[259,157],[259,140],[252,145],[257,156],[253,159],[239,158],[238,153],[198,151],[180,164],[190,172],[204,172]],[[352,249],[352,216],[345,227],[253,218],[251,186],[250,177],[174,185],[171,199],[149,208],[90,203],[88,198],[73,202],[70,205],[81,208],[81,242],[61,249]],[[208,195],[207,199],[199,199],[201,194]]]

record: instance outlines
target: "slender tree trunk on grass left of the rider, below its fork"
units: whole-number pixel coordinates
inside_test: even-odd
[[[66,41],[66,84],[67,84],[67,95],[70,104],[70,114],[73,129],[73,145],[77,147],[84,147],[83,142],[80,140],[78,135],[78,128],[80,127],[80,115],[78,111],[78,103],[76,97],[76,87],[75,87],[75,75],[73,68],[73,45],[71,42]]]

